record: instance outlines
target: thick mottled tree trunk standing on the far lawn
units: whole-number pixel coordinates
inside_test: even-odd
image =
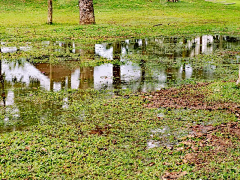
[[[79,24],[95,24],[93,0],[79,0]]]

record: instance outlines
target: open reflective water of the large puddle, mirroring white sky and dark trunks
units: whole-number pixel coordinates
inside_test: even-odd
[[[7,45],[7,43],[1,42],[1,53],[32,49],[31,43],[21,47],[8,47]],[[53,65],[30,63],[25,58],[15,62],[0,60],[0,107],[12,108],[12,112],[15,114],[5,114],[3,122],[16,119],[21,112],[21,110],[14,110],[16,105],[14,102],[15,87],[40,88],[48,91],[92,88],[96,90],[131,89],[145,92],[160,90],[173,81],[191,78],[199,80],[217,78],[215,76],[217,66],[206,63],[196,69],[193,66],[194,62],[191,62],[189,58],[199,54],[211,54],[216,50],[240,47],[240,39],[220,35],[194,38],[129,39],[116,43],[89,45],[87,50],[81,49],[82,45],[75,42],[45,41],[41,43],[43,49],[50,46],[53,47],[52,51],[54,52],[79,54],[80,57],[87,55],[92,60],[106,58],[110,61],[114,60],[115,63],[80,67],[75,61]],[[152,59],[158,59],[159,62],[153,62]],[[239,59],[240,57],[236,56],[237,63]],[[240,82],[240,75],[238,82]],[[67,109],[68,98],[66,97],[62,101],[61,108]],[[163,116],[163,114],[159,114],[159,118]]]

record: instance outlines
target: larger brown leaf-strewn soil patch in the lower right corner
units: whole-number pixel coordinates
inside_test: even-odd
[[[229,149],[237,148],[240,143],[240,126],[237,122],[216,127],[197,125],[191,129],[193,133],[189,135],[190,139],[181,142],[185,146],[184,149],[192,149],[192,152],[183,157],[183,162],[197,165],[199,168],[204,168],[203,164],[206,165],[213,160],[219,163],[226,161],[225,155],[228,154]],[[194,140],[196,137],[201,140]],[[232,141],[233,137],[235,142]],[[204,151],[204,147],[211,148]]]

